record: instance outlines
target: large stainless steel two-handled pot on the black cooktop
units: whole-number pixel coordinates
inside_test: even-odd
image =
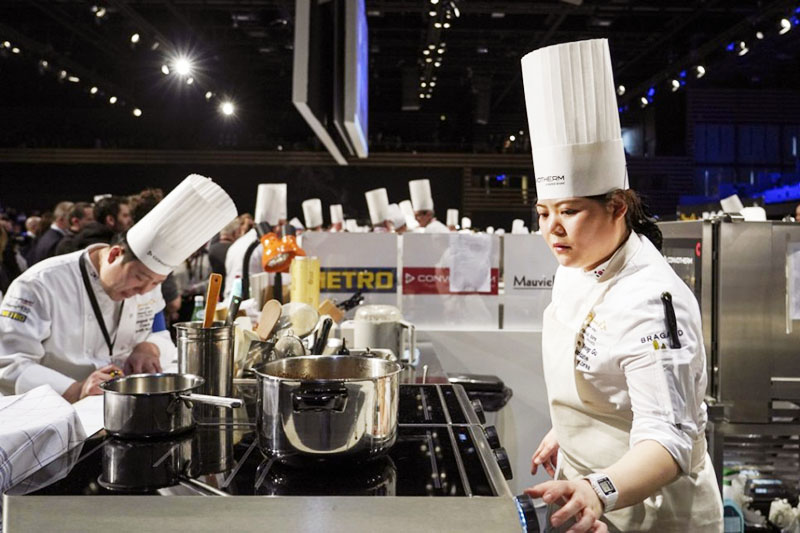
[[[257,427],[264,453],[287,463],[371,459],[397,438],[401,366],[358,356],[271,361],[258,376]]]

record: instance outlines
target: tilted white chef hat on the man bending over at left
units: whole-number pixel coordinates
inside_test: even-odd
[[[192,174],[128,231],[127,240],[139,261],[166,276],[236,215],[222,187]]]

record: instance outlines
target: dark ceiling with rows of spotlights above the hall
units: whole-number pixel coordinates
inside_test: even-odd
[[[503,149],[510,133],[527,129],[521,56],[577,39],[610,39],[616,81],[628,89],[620,104],[632,113],[651,86],[655,105],[679,98],[668,87],[683,70],[689,87],[800,88],[800,27],[778,35],[780,19],[797,16],[792,1],[366,5],[373,151]],[[436,29],[434,21],[450,28]],[[321,149],[291,104],[293,33],[293,0],[3,0],[0,146]],[[748,54],[726,51],[740,40]],[[442,41],[431,98],[403,111],[404,69],[421,73],[422,51]],[[192,85],[160,70],[176,52],[195,62]],[[700,80],[691,70],[698,64],[707,69]],[[235,101],[233,117],[219,113],[223,98]]]

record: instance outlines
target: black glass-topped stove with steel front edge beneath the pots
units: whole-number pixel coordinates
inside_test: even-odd
[[[98,432],[6,492],[4,531],[120,530],[131,513],[137,530],[539,531],[530,498],[509,490],[496,431],[459,385],[401,385],[397,442],[365,463],[268,459],[246,407],[177,439]]]

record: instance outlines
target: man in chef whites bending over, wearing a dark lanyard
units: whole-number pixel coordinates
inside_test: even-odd
[[[47,384],[74,402],[100,394],[112,371],[160,371],[175,346],[153,331],[159,284],[235,217],[225,191],[192,174],[117,244],[28,269],[0,306],[0,394]]]

